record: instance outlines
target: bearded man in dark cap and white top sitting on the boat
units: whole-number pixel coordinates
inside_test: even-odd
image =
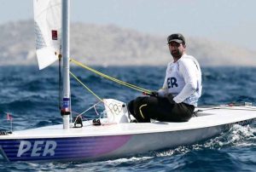
[[[185,38],[175,33],[167,37],[167,44],[173,61],[167,66],[163,88],[128,104],[138,123],[150,123],[150,118],[187,122],[201,97],[201,68],[193,56],[186,54]]]

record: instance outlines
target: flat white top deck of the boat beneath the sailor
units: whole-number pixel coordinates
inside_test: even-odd
[[[166,123],[108,123],[99,126],[84,121],[83,128],[62,129],[63,125],[52,125],[37,129],[15,131],[12,135],[1,135],[0,139],[58,138],[104,135],[137,135],[186,129],[201,129],[229,123],[248,122],[256,118],[255,106],[209,106],[196,109],[198,112],[189,122]]]

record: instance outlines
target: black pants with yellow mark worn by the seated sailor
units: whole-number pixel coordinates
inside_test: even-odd
[[[129,102],[128,109],[138,123],[150,123],[150,118],[165,122],[189,121],[195,106],[176,103],[172,98],[172,95],[137,97]]]

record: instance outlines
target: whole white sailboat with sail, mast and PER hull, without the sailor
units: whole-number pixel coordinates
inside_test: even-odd
[[[62,52],[63,124],[0,135],[0,153],[5,161],[120,158],[189,145],[218,135],[230,129],[235,123],[247,124],[256,118],[256,106],[247,104],[200,107],[195,110],[195,117],[185,123],[158,121],[130,123],[125,104],[109,99],[104,100],[108,117],[102,119],[102,125],[94,125],[90,120],[84,122],[80,128],[73,128],[74,123],[70,123],[69,1],[34,0],[34,9],[39,43],[37,46],[39,68],[49,66]],[[48,14],[59,17],[52,18]],[[47,25],[45,22],[41,23],[44,20],[48,22]]]

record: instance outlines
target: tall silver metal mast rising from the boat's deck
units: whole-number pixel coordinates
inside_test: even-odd
[[[69,81],[69,0],[62,0],[62,59],[63,59],[63,99],[61,116],[63,129],[69,129],[70,119],[70,81]]]

